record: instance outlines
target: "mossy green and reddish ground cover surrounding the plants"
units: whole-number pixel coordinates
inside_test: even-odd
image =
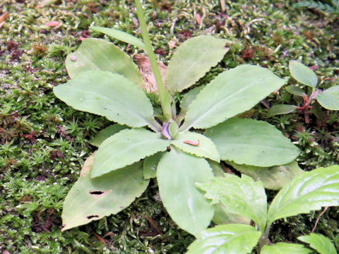
[[[289,78],[288,61],[297,59],[316,69],[321,88],[338,85],[335,16],[292,8],[292,1],[225,1],[225,11],[219,0],[146,2],[146,16],[153,21],[151,39],[165,63],[175,47],[191,36],[213,34],[234,42],[220,65],[199,83],[240,63],[265,66]],[[35,8],[39,3],[46,6]],[[0,11],[9,14],[0,28],[0,252],[184,253],[194,238],[169,219],[154,182],[123,212],[60,231],[62,202],[84,160],[95,150],[88,140],[109,121],[67,107],[52,88],[68,79],[66,55],[83,38],[102,37],[89,33],[90,25],[141,37],[133,1],[3,0]],[[58,23],[45,25],[53,20]],[[138,53],[116,43],[131,56]],[[337,112],[323,110],[321,119],[311,114],[310,123],[305,123],[302,113],[266,119],[265,105],[292,102],[282,88],[249,114],[273,123],[295,141],[302,150],[298,162],[303,169],[338,164]],[[273,226],[271,240],[295,241],[308,234],[319,214],[280,221]],[[339,210],[329,208],[316,228],[337,248],[338,221]]]

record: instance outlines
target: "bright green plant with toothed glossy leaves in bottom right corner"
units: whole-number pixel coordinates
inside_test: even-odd
[[[212,204],[221,204],[230,214],[247,217],[255,226],[248,224],[222,224],[198,234],[187,254],[202,253],[251,253],[259,243],[261,254],[311,253],[297,243],[270,243],[270,226],[277,219],[320,210],[321,207],[338,206],[339,166],[319,168],[304,172],[287,183],[275,196],[269,207],[261,181],[246,175],[232,174],[214,177],[207,183],[197,184],[206,191]],[[309,243],[321,254],[336,254],[330,239],[320,234],[299,236],[299,241]]]

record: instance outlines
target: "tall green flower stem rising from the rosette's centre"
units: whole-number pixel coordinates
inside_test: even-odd
[[[162,114],[165,116],[165,121],[172,119],[171,104],[169,102],[169,92],[166,90],[162,77],[160,74],[159,66],[157,66],[157,60],[153,52],[152,44],[150,43],[150,36],[148,35],[147,25],[145,23],[145,17],[143,16],[143,6],[141,6],[141,0],[135,0],[136,11],[138,13],[138,20],[141,27],[141,33],[143,35],[143,42],[145,43],[146,53],[150,58],[150,66],[157,82],[157,92],[159,92],[160,104],[162,108]]]

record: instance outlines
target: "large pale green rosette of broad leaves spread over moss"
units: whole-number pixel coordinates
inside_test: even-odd
[[[141,49],[148,47],[121,31],[93,30]],[[62,230],[117,214],[156,178],[170,217],[197,236],[215,214],[225,212],[196,188],[197,182],[210,181],[220,171],[220,160],[256,167],[252,177],[267,176],[270,169],[285,164],[284,174],[290,178],[284,181],[300,173],[299,168],[290,170],[299,150],[283,133],[263,121],[237,118],[286,80],[267,68],[244,64],[186,92],[222,60],[227,43],[201,35],[177,48],[167,66],[167,88],[159,90],[162,117],[154,116],[136,64],[113,43],[89,38],[67,56],[71,80],[54,87],[54,94],[74,109],[105,116],[112,126],[90,140],[99,148],[64,201]],[[181,111],[168,116],[167,97],[183,91]]]

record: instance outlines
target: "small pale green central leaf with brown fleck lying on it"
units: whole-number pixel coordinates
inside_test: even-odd
[[[189,142],[192,142],[194,145],[189,144]],[[192,155],[206,157],[216,162],[220,162],[217,147],[215,147],[209,138],[206,138],[199,133],[191,131],[179,132],[175,136],[175,139],[171,140],[171,144]]]

